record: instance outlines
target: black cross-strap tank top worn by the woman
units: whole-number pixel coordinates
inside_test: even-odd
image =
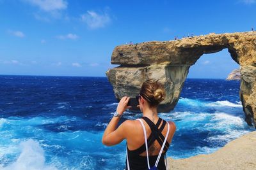
[[[145,120],[145,122],[147,122],[148,126],[151,129],[151,134],[147,139],[147,143],[148,143],[148,148],[154,143],[154,141],[157,140],[157,142],[162,146],[163,145],[163,141],[164,141],[164,136],[162,134],[162,131],[164,129],[164,126],[166,125],[166,121],[163,120],[163,124],[160,126],[162,119],[159,118],[157,121],[157,124],[155,125],[149,118],[147,117],[142,117],[143,120]],[[159,160],[159,164],[157,166],[157,168],[159,170],[166,170],[165,164],[164,164],[164,155],[166,154],[168,148],[169,148],[169,143],[166,141],[165,146],[164,146],[164,152],[161,154],[160,160]],[[136,149],[136,150],[129,150],[127,147],[127,153],[128,153],[128,160],[129,160],[129,165],[130,165],[130,169],[131,170],[144,170],[144,169],[148,169],[147,166],[147,156],[140,156],[141,153],[145,152],[146,150],[146,146],[145,143],[143,145],[140,146],[140,148]],[[149,163],[150,163],[150,167],[154,166],[156,163],[156,159],[157,159],[158,155],[154,155],[154,156],[149,156]],[[127,170],[127,161],[126,162],[126,166],[125,169]]]

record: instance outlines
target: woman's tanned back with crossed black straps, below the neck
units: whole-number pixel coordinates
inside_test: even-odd
[[[147,132],[148,155],[151,167],[156,163],[157,156],[163,146],[168,131],[168,125],[166,124],[166,121],[158,117],[154,122],[147,117],[143,117],[141,120],[143,121],[143,125],[145,125]],[[133,125],[131,125],[131,129],[128,131],[129,134],[127,134],[127,155],[130,169],[148,169],[143,128],[138,120],[132,121],[131,124]],[[173,122],[169,122],[169,124],[170,132],[157,166],[158,169],[165,169],[164,155],[168,150],[169,143],[172,141],[175,132],[175,125]]]

